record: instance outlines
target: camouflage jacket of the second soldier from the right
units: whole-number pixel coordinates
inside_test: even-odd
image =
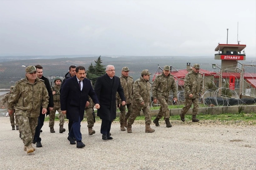
[[[173,92],[173,97],[177,98],[177,85],[171,74],[165,76],[164,73],[156,76],[152,85],[153,99],[164,97],[169,99],[170,91]]]

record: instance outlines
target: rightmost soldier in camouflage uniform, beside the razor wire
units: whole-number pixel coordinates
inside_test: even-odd
[[[198,103],[199,97],[203,92],[203,78],[199,73],[199,64],[194,64],[192,71],[190,71],[184,80],[184,96],[185,96],[185,106],[181,109],[180,120],[185,122],[185,114],[190,109],[192,103],[194,104],[192,113],[192,122],[198,122],[199,119],[196,118],[198,114]]]

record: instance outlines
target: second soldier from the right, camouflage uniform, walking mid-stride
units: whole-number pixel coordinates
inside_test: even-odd
[[[157,103],[157,100],[160,102],[160,109],[159,112],[153,121],[155,126],[159,125],[159,119],[164,116],[164,120],[166,123],[166,127],[171,127],[170,123],[170,112],[168,108],[168,99],[170,95],[170,91],[173,92],[173,100],[177,101],[177,85],[173,76],[170,73],[170,66],[165,66],[162,74],[158,75],[152,86],[152,95],[153,95],[153,102]]]

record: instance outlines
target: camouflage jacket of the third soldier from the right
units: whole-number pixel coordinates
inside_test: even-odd
[[[133,85],[133,96],[131,100],[131,105],[133,108],[143,109],[150,103],[150,82],[144,80],[142,76],[140,79],[136,80]],[[144,102],[144,105],[140,103]]]

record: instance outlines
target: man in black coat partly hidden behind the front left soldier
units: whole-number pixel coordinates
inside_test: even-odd
[[[50,85],[49,80],[43,76],[43,67],[40,65],[36,65],[35,66],[37,69],[37,77],[41,80],[44,80],[44,84],[46,86],[46,89],[48,91],[48,95],[49,95],[49,104],[47,107],[47,115],[50,114],[50,111],[53,109],[53,94],[52,94],[52,88]],[[42,114],[42,107],[40,109],[40,116],[38,117],[38,125],[36,128],[36,132],[35,132],[35,136],[34,136],[34,140],[33,140],[33,144],[37,143],[37,148],[42,147],[41,144],[41,138],[40,138],[40,131],[42,126],[44,125],[44,118],[45,118],[45,114]]]

